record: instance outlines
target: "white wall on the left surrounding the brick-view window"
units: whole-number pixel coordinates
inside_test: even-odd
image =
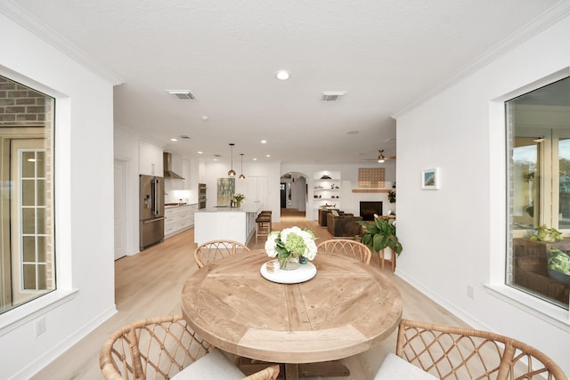
[[[116,311],[113,89],[1,13],[0,45],[0,74],[56,97],[58,288],[0,315],[0,378],[28,378]]]

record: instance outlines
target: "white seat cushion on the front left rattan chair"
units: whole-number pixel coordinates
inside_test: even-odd
[[[244,377],[243,372],[226,358],[224,352],[215,348],[171,378],[172,380],[241,380]]]

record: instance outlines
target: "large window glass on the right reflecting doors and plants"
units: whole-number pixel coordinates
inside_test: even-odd
[[[505,105],[510,152],[506,283],[568,309],[570,271],[553,270],[552,257],[570,254],[570,78]],[[555,241],[551,233],[558,231],[565,238]]]

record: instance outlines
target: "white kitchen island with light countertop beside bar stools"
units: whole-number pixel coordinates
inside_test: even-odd
[[[261,203],[202,208],[194,214],[194,242],[234,240],[248,244],[256,233],[256,217],[262,208]]]

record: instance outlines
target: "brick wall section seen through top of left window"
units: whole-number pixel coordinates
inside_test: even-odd
[[[45,96],[0,77],[0,127],[45,126]]]

